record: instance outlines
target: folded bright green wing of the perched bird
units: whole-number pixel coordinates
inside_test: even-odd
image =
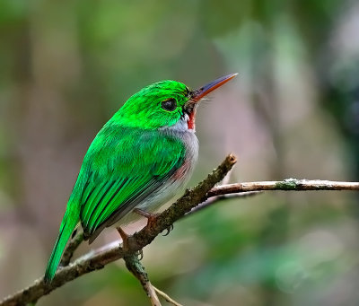
[[[90,242],[162,186],[183,163],[185,146],[156,131],[103,127],[83,159],[74,190]]]

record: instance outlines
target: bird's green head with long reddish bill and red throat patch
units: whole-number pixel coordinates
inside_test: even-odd
[[[223,76],[197,90],[176,81],[153,83],[131,96],[112,120],[126,127],[194,130],[198,101],[236,75]]]

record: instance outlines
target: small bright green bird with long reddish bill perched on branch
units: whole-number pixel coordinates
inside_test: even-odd
[[[161,81],[131,96],[92,141],[66,206],[45,282],[54,278],[74,228],[89,243],[111,225],[133,222],[139,212],[165,204],[191,176],[198,155],[198,101],[237,74],[190,90]]]

